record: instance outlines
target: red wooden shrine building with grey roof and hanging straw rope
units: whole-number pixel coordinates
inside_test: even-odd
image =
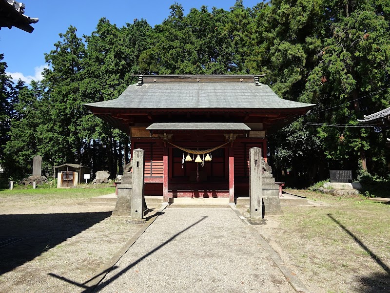
[[[249,195],[249,149],[314,105],[279,98],[257,75],[144,75],[85,106],[145,151],[145,195]]]

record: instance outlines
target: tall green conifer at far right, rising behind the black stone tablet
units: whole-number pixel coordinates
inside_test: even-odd
[[[316,115],[318,121],[355,125],[363,114],[389,106],[389,15],[377,3],[328,3],[318,63],[306,84],[307,97],[319,100],[320,109],[331,108]],[[318,136],[328,159],[342,162],[342,167],[356,169],[359,158],[367,169],[367,151],[375,157],[377,143],[370,141],[367,129],[323,126]]]

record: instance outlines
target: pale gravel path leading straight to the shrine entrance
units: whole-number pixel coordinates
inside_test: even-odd
[[[230,208],[167,208],[96,292],[294,292]]]

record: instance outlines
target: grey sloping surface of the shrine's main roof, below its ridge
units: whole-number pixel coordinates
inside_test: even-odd
[[[255,84],[254,76],[251,76],[252,82],[240,82],[240,77],[228,76],[232,79],[230,82],[210,82],[209,79],[207,82],[132,84],[115,100],[84,105],[88,108],[122,109],[280,109],[313,106],[280,99],[268,85]]]

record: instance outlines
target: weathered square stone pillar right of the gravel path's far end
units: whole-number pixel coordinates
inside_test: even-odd
[[[249,215],[251,224],[262,224],[263,220],[263,196],[262,196],[262,161],[261,148],[252,147],[249,150]]]

